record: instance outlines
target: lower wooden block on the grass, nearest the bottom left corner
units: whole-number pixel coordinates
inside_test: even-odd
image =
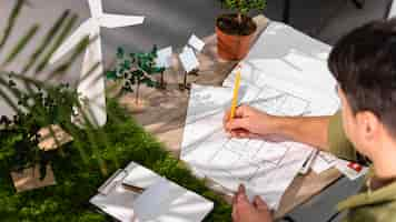
[[[21,172],[11,172],[11,178],[18,193],[57,184],[50,164],[47,165],[47,174],[43,180],[40,180],[39,165],[24,169]]]

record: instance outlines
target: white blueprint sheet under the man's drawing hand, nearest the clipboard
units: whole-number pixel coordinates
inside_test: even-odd
[[[280,138],[229,139],[222,117],[231,101],[231,88],[194,84],[187,111],[181,159],[228,190],[245,184],[249,196],[260,195],[277,209],[311,148]],[[271,87],[240,89],[240,101],[273,114],[307,112],[309,101]]]

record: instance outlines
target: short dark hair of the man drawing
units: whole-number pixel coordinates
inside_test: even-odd
[[[328,67],[353,112],[373,112],[396,134],[396,19],[369,22],[341,38]]]

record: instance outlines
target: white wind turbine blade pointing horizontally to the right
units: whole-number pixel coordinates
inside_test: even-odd
[[[130,27],[141,24],[145,21],[145,17],[130,17],[105,13],[100,17],[99,23],[106,28]]]

